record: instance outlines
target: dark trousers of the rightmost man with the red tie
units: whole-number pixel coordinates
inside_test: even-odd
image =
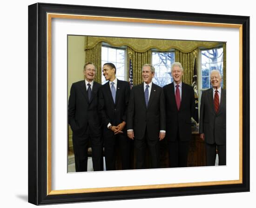
[[[214,166],[216,160],[216,148],[218,150],[219,165],[226,165],[226,145],[217,145],[205,143],[206,165]]]

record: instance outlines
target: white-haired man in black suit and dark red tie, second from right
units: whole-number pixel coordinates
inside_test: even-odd
[[[171,75],[174,81],[163,87],[166,100],[169,166],[187,167],[189,143],[192,137],[191,117],[195,112],[194,90],[192,86],[182,82],[181,63],[172,64]]]

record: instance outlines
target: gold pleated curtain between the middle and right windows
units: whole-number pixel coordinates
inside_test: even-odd
[[[197,54],[197,49],[192,52],[184,53],[179,50],[175,50],[175,61],[180,62],[183,67],[183,78],[182,82],[191,85],[193,82],[193,72],[195,56]]]

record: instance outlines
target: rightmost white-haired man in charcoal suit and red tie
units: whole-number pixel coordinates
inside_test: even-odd
[[[206,164],[215,165],[217,148],[219,165],[226,165],[226,90],[218,70],[211,71],[210,81],[213,88],[202,92],[199,133],[205,141]]]

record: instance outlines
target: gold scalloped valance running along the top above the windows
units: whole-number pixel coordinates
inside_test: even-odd
[[[170,49],[177,49],[181,52],[191,52],[198,47],[213,48],[220,45],[220,42],[193,41],[193,40],[168,40],[168,39],[141,39],[141,38],[116,38],[86,36],[85,49],[94,48],[100,42],[120,47],[126,45],[136,52],[147,52],[155,48],[158,51],[166,52]]]

